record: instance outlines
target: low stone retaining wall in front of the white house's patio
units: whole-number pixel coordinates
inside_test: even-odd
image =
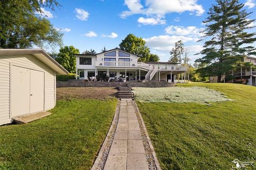
[[[126,82],[129,87],[174,87],[168,82]],[[125,84],[126,84],[125,83]],[[56,82],[57,87],[120,87],[121,82],[85,82],[85,80],[69,80]]]

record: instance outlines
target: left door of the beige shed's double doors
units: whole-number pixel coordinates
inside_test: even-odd
[[[11,112],[12,117],[29,114],[30,70],[12,66]]]

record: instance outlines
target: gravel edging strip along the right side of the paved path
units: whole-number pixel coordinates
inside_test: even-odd
[[[143,122],[142,116],[140,114],[139,108],[137,106],[137,103],[133,101],[134,107],[135,107],[135,114],[137,115],[139,126],[141,129],[141,135],[142,135],[142,141],[144,145],[144,149],[146,152],[146,158],[148,161],[149,169],[151,170],[161,170],[161,167],[159,165],[159,161],[156,157],[156,152],[154,150],[154,147],[150,141],[147,128],[145,126],[145,123]]]

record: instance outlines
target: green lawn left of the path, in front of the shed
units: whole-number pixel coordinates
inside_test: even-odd
[[[90,169],[117,100],[62,100],[52,115],[0,127],[0,169]]]

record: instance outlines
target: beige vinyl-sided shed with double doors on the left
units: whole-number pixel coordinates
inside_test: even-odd
[[[0,125],[54,108],[56,74],[68,71],[43,50],[0,49]]]

